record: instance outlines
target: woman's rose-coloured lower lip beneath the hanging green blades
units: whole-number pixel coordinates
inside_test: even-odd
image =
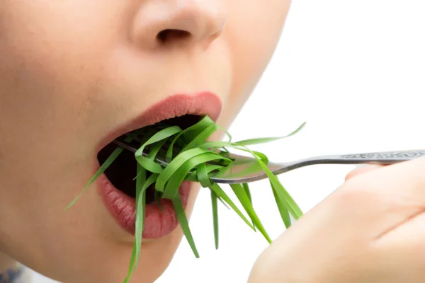
[[[135,234],[136,209],[135,199],[118,190],[105,174],[97,179],[98,192],[104,204],[125,231]],[[186,209],[191,183],[184,181],[179,188],[183,207]],[[162,209],[156,204],[147,204],[145,207],[145,226],[142,238],[155,239],[169,235],[179,225],[176,212],[171,200],[160,200]]]

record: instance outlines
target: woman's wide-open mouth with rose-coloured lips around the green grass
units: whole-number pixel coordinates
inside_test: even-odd
[[[169,126],[179,126],[187,129],[198,123],[203,117],[208,116],[214,122],[218,119],[222,110],[220,98],[214,93],[198,93],[195,95],[176,94],[170,96],[159,103],[152,105],[127,123],[115,128],[103,138],[98,147],[98,154],[94,156],[99,165],[103,164],[118,145],[113,142],[115,139],[126,137],[129,133],[137,132],[137,138],[132,141],[135,149],[140,149],[145,141]],[[153,131],[153,134],[152,132]],[[188,137],[190,138],[190,137]],[[179,139],[180,140],[180,139]],[[180,148],[186,141],[181,141]],[[179,151],[179,144],[174,144],[174,149]],[[166,152],[168,146],[164,144],[158,156]],[[149,150],[149,146],[145,149]],[[147,154],[149,152],[146,152]],[[176,154],[174,154],[176,156]],[[94,171],[98,171],[98,166]],[[149,171],[147,171],[149,178]],[[105,204],[106,209],[117,224],[125,231],[134,235],[136,223],[136,180],[137,161],[132,151],[124,149],[106,171],[96,179],[98,193]],[[145,221],[142,238],[153,239],[162,238],[176,229],[179,225],[174,204],[168,198],[162,198],[161,193],[155,190],[156,184],[148,187],[145,197]],[[184,180],[178,192],[183,209],[186,209],[191,187],[193,183]],[[140,214],[137,214],[140,215]]]

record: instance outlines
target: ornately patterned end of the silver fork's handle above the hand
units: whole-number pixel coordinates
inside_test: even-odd
[[[382,151],[370,152],[365,154],[344,154],[332,156],[318,156],[307,159],[306,162],[312,164],[331,163],[331,164],[381,164],[390,165],[402,161],[409,161],[414,158],[425,156],[425,150],[407,150],[407,151]]]

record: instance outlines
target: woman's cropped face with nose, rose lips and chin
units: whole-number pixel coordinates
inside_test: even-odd
[[[100,178],[64,208],[120,134],[184,114],[229,126],[289,2],[0,1],[0,250],[63,282],[122,282],[134,200]],[[155,209],[135,282],[154,282],[182,238]]]

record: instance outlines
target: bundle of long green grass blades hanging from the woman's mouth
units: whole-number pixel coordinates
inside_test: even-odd
[[[285,137],[290,137],[297,133],[304,127],[303,123],[294,132]],[[239,210],[236,204],[230,200],[229,196],[217,183],[212,183],[210,176],[216,173],[222,173],[229,168],[229,165],[237,162],[228,158],[227,148],[233,148],[240,151],[245,151],[254,156],[257,161],[256,166],[261,166],[261,169],[266,173],[268,180],[271,184],[273,196],[276,200],[280,216],[285,224],[285,227],[290,227],[290,215],[295,220],[302,216],[300,207],[295,203],[293,198],[285,190],[285,187],[280,183],[276,175],[274,175],[266,166],[268,158],[258,151],[251,151],[247,146],[254,144],[262,144],[269,141],[276,141],[285,137],[272,137],[272,138],[258,138],[246,139],[243,141],[232,142],[232,136],[222,129],[229,137],[229,141],[206,141],[214,132],[222,129],[216,125],[210,117],[205,116],[195,125],[187,129],[181,129],[178,126],[166,125],[166,122],[161,122],[156,125],[145,127],[138,131],[128,134],[126,141],[130,142],[136,137],[140,137],[142,142],[140,147],[135,153],[137,161],[137,175],[136,180],[136,223],[135,223],[135,242],[132,250],[132,257],[130,260],[130,267],[128,276],[124,279],[128,283],[132,272],[135,271],[140,258],[140,250],[142,246],[142,232],[145,220],[145,202],[146,190],[150,185],[155,187],[155,200],[159,204],[159,199],[169,199],[173,203],[174,210],[176,211],[177,218],[183,233],[193,250],[196,258],[199,258],[198,250],[191,229],[189,228],[188,219],[183,209],[179,195],[179,187],[183,180],[198,182],[202,187],[208,187],[211,190],[211,204],[212,204],[212,220],[214,227],[215,248],[218,248],[218,213],[217,201],[227,204],[226,206],[236,212],[241,219],[251,229],[256,231],[258,229],[264,238],[271,243],[271,238],[268,236],[266,229],[257,216],[254,207],[252,206],[251,193],[249,192],[249,185],[244,184],[230,184],[234,195],[242,204],[246,214],[248,214],[249,221],[244,214]],[[178,146],[175,146],[178,145]],[[217,154],[217,149],[221,149],[220,154]],[[118,147],[113,151],[106,161],[101,165],[96,174],[89,180],[84,190],[78,195],[66,209],[72,206],[79,197],[89,188],[89,186],[101,175],[108,166],[115,161],[115,159],[123,152],[124,149]],[[143,156],[142,153],[146,151],[148,154]],[[155,162],[157,154],[161,152],[162,156],[166,156],[169,165],[164,167]],[[213,162],[211,162],[213,161]],[[249,170],[249,168],[248,168]],[[147,178],[147,172],[150,172]]]

